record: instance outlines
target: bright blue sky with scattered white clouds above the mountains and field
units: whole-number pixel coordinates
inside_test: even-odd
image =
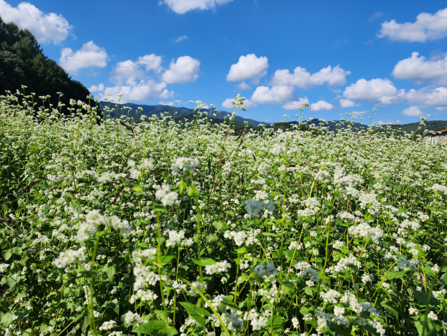
[[[48,58],[93,95],[241,116],[380,123],[446,119],[446,1],[0,0]]]

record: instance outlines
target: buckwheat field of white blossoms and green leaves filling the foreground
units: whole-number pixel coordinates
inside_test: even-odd
[[[17,97],[0,99],[0,335],[445,335],[445,146]]]

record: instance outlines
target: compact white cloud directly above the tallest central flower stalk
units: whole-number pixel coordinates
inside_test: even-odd
[[[239,57],[239,62],[230,67],[227,75],[228,81],[259,79],[267,74],[269,60],[267,57],[256,57],[255,54],[248,54]]]

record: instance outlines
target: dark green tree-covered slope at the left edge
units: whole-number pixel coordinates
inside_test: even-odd
[[[5,23],[0,17],[0,95],[5,91],[34,93],[34,102],[41,105],[40,96],[49,95],[48,103],[66,112],[70,99],[86,101],[88,89],[73,80],[53,60],[43,55],[37,39],[27,29],[19,29],[14,23]],[[63,95],[60,97],[58,92]],[[20,97],[19,97],[20,98]],[[59,106],[58,106],[59,105]],[[91,101],[91,106],[95,106]],[[37,106],[37,107],[38,107]]]

